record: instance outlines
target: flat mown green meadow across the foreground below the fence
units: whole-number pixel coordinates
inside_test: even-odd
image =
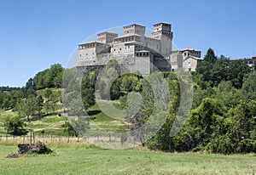
[[[148,150],[50,146],[56,155],[7,159],[16,146],[0,144],[0,174],[253,174],[253,155],[201,155]]]

